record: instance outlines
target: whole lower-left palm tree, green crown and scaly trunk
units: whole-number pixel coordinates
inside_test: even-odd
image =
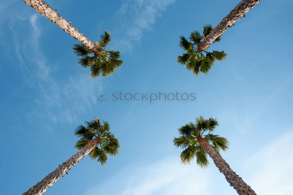
[[[110,125],[106,121],[103,121],[103,124],[100,123],[98,118],[91,122],[86,121],[86,127],[79,125],[74,134],[80,138],[75,144],[78,152],[59,165],[57,169],[47,175],[42,181],[23,193],[23,195],[43,194],[87,154],[89,154],[91,160],[97,160],[101,165],[106,164],[107,155],[116,156],[118,154],[118,149],[120,148],[118,139],[110,132]]]

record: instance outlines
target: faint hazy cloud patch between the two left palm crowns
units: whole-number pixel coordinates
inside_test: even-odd
[[[102,80],[93,80],[86,74],[69,77],[68,80],[51,82],[49,87],[40,88],[34,107],[29,115],[44,115],[53,122],[73,122],[97,102],[102,92]]]

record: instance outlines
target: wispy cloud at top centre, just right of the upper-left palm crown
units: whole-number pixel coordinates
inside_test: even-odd
[[[151,26],[162,12],[176,0],[125,0],[115,14],[121,24],[120,40],[116,43],[119,50],[131,51],[140,42],[144,32]]]

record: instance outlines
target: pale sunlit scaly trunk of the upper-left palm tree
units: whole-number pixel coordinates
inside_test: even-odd
[[[94,52],[97,55],[102,55],[103,52],[97,49],[98,42],[95,44],[92,40],[88,39],[84,34],[79,32],[74,26],[71,25],[70,21],[65,20],[62,16],[57,13],[57,10],[51,8],[45,1],[42,0],[22,0],[32,8],[34,8],[37,12],[46,16],[53,23],[57,24],[70,34],[70,36],[74,37],[76,40],[84,44],[89,51]]]

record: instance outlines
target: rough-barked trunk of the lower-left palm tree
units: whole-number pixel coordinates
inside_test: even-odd
[[[90,153],[94,147],[100,143],[100,138],[97,137],[86,144],[79,152],[71,156],[66,162],[59,165],[57,169],[47,175],[42,181],[35,184],[23,195],[40,195],[43,194],[49,187],[51,187],[60,177],[63,177],[64,174],[74,167],[81,159],[84,158],[88,153]]]

